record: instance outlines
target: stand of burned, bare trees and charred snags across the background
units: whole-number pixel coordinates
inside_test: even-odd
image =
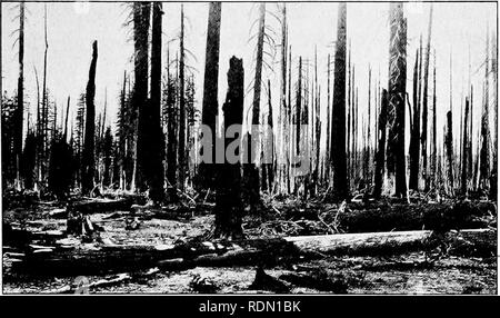
[[[210,192],[216,193],[216,235],[230,238],[242,236],[244,206],[254,211],[262,202],[262,193],[296,195],[307,199],[326,192],[326,198],[338,202],[357,193],[363,193],[364,198],[380,198],[382,195],[408,198],[411,197],[408,190],[431,192],[434,197],[478,192],[496,197],[498,130],[490,120],[490,112],[493,111],[497,119],[497,38],[494,32],[491,36],[487,30],[482,101],[473,98],[478,89],[469,78],[461,96],[464,107],[452,103],[450,57],[450,101],[444,126],[438,127],[438,107],[443,106],[438,105],[436,92],[439,70],[436,68],[436,50],[431,51],[432,4],[429,7],[427,41],[423,43],[420,37],[414,63],[410,62],[413,63],[412,71],[407,71],[410,63],[407,61],[404,4],[389,4],[388,83],[382,85],[380,71],[377,78],[370,66],[366,103],[359,100],[359,73],[351,58],[347,30],[349,4],[338,4],[337,33],[332,39],[334,50],[326,57],[326,89],[321,89],[318,82],[318,73],[322,70],[318,67],[317,50],[313,60],[292,54],[287,4],[276,4],[276,10],[269,4],[259,4],[254,23],[254,68],[249,85],[253,93],[252,116],[250,118],[243,110],[243,61],[233,57],[229,61],[223,119],[218,122],[222,3],[211,2],[208,7],[199,118],[194,74],[187,59],[183,7],[180,34],[176,39],[179,46],[176,58],[171,59],[172,46],[162,41],[166,12],[161,2],[134,2],[131,4],[133,74],[123,73],[118,97],[118,121],[113,126],[107,126],[106,102],[103,112],[96,113],[96,90],[104,89],[96,87],[97,41],[92,43],[84,93],[78,99],[68,97],[66,111],[63,107],[61,112],[58,111],[47,87],[47,7],[41,88],[34,69],[37,113],[33,118],[28,112],[24,121],[29,109],[23,97],[24,6],[23,2],[19,4],[18,91],[13,97],[6,92],[2,95],[4,188],[34,189],[61,199],[74,189],[84,196],[121,189],[147,192],[153,203],[161,205],[177,202],[183,197],[192,200],[188,192],[196,186],[198,191],[203,191],[201,197],[204,199]],[[280,32],[272,30],[272,18],[277,19]],[[277,48],[276,57],[272,51]],[[166,64],[162,64],[163,52]],[[266,78],[266,68],[272,64],[268,58],[279,62],[278,103],[272,103],[271,81]],[[407,82],[412,87],[411,98]],[[493,93],[490,93],[491,89]],[[327,102],[321,103],[321,93],[324,92]],[[71,100],[76,100],[73,103],[77,106],[74,122],[69,120]],[[362,111],[359,111],[360,105],[363,105]],[[457,111],[460,130],[453,131],[453,118],[457,118],[453,113]],[[472,125],[473,115],[479,112],[481,121],[476,127]],[[61,118],[58,113],[62,113]],[[406,148],[406,119],[410,119],[409,149]],[[212,145],[196,156],[211,158],[211,162],[198,166],[190,161],[193,158],[188,153],[193,153],[189,152],[190,148],[203,138],[196,129],[201,123],[211,129]],[[224,127],[222,132],[230,125],[243,125],[243,129],[237,131],[238,136],[221,142],[224,150],[233,149],[237,156],[246,157],[242,165],[227,159],[216,162],[216,127],[220,123]],[[246,123],[251,127],[244,129]],[[263,130],[260,125],[271,129]],[[494,132],[491,132],[493,127]],[[438,133],[442,133],[442,145],[438,143]],[[234,149],[232,143],[237,138],[242,138],[243,143]],[[240,151],[240,147],[247,145],[252,147],[243,147]],[[262,161],[266,158],[270,160]]]

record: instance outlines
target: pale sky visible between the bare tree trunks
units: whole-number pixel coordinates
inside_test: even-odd
[[[2,3],[2,90],[12,95],[17,87],[17,44],[16,36],[10,36],[18,28],[18,21],[12,20],[18,13],[11,8],[14,3]],[[437,52],[437,96],[438,96],[438,127],[446,123],[446,111],[449,106],[449,71],[450,53],[453,56],[453,105],[461,106],[462,91],[467,91],[469,52],[472,73],[472,83],[476,88],[474,99],[482,100],[481,82],[483,79],[482,64],[484,60],[486,30],[496,29],[496,3],[433,3],[432,48]],[[267,6],[269,11],[279,13],[276,3]],[[318,47],[318,82],[321,88],[321,103],[326,106],[327,99],[327,54],[333,54],[337,3],[288,3],[289,43],[292,46],[293,57],[302,56],[310,61],[310,73],[313,72],[314,46]],[[43,3],[27,3],[26,23],[26,57],[24,57],[24,100],[30,105],[30,111],[36,112],[37,88],[33,68],[41,73],[43,69]],[[99,59],[96,76],[96,110],[101,112],[104,105],[104,92],[108,91],[108,123],[116,122],[119,105],[119,92],[123,70],[133,70],[133,41],[132,24],[123,27],[127,21],[128,8],[124,3],[47,3],[48,9],[48,79],[47,87],[62,111],[68,95],[76,101],[84,91],[88,76],[91,42],[99,42]],[[356,79],[359,83],[368,82],[368,68],[372,68],[372,81],[387,85],[388,73],[388,6],[387,3],[349,3],[348,4],[348,42],[351,43],[352,62],[356,64]],[[164,3],[163,10],[163,42],[178,38],[180,32],[180,3]],[[194,74],[196,107],[201,110],[202,81],[204,70],[204,46],[207,38],[208,2],[186,3],[186,48],[187,64]],[[412,66],[419,37],[426,39],[428,23],[427,3],[408,3],[404,6],[408,18],[408,61]],[[224,3],[222,6],[220,71],[219,71],[219,107],[227,90],[226,76],[228,60],[231,56],[241,57],[248,70],[254,69],[252,58],[257,23],[250,28],[258,14],[258,6],[252,3]],[[12,20],[12,21],[11,21]],[[278,21],[269,16],[267,23],[277,32],[276,41],[279,43],[280,27]],[[178,41],[170,43],[170,59],[174,59]],[[167,60],[167,46],[163,46],[163,64]],[[433,50],[432,50],[433,51]],[[433,52],[431,52],[432,54]],[[268,58],[268,62],[272,59]],[[433,57],[431,57],[432,59]],[[279,105],[279,48],[277,49],[273,72],[264,69],[263,82],[271,82],[273,105]],[[298,60],[293,59],[294,74],[297,76]],[[252,90],[249,83],[253,72],[246,72],[244,109],[248,120],[251,120],[248,109],[251,107]],[[292,78],[292,81],[294,79]],[[412,96],[412,78],[407,79],[408,93]],[[492,90],[490,90],[492,93]],[[373,95],[372,95],[372,98]],[[267,98],[264,97],[267,100]],[[491,100],[491,99],[490,99]],[[367,112],[368,86],[359,86],[360,116]],[[373,103],[373,102],[372,102]],[[458,109],[458,108],[457,108]],[[221,112],[220,112],[221,113]],[[491,113],[491,112],[490,112]],[[77,115],[76,105],[70,107],[71,118]],[[274,112],[278,117],[278,111]],[[326,107],[321,109],[321,117],[326,116]],[[24,118],[27,113],[24,113]],[[460,131],[460,112],[453,112],[453,130]],[[33,117],[32,117],[33,118]],[[409,146],[409,117],[407,116],[407,142]],[[479,107],[473,115],[473,122],[480,122]],[[26,126],[26,120],[24,120]],[[26,127],[24,127],[26,131]],[[326,126],[322,127],[324,136]],[[439,130],[438,130],[439,131]],[[473,136],[476,139],[477,137]],[[438,142],[442,141],[442,133],[438,133]],[[474,141],[476,142],[476,141]],[[324,142],[322,142],[324,148]],[[474,150],[476,151],[476,150]]]

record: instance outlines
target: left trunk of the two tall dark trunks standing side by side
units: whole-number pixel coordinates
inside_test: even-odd
[[[133,3],[133,40],[134,40],[134,74],[136,83],[133,89],[133,112],[137,120],[136,141],[136,173],[134,183],[139,191],[146,190],[147,177],[147,127],[148,122],[148,37],[151,6],[149,2]]]

